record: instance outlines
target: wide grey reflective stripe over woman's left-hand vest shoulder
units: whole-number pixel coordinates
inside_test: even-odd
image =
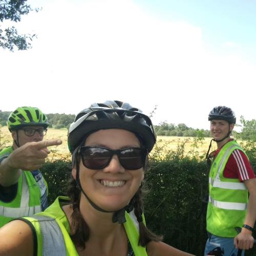
[[[42,256],[65,256],[66,246],[61,229],[55,219],[49,216],[33,216],[40,221],[42,232]]]

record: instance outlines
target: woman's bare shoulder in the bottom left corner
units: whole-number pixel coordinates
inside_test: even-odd
[[[33,255],[33,234],[22,220],[14,220],[0,228],[0,255]]]

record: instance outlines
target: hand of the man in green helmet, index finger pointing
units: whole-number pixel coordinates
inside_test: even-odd
[[[60,145],[61,140],[43,140],[28,142],[16,148],[8,157],[8,165],[12,169],[35,170],[42,167],[50,151],[48,146]]]

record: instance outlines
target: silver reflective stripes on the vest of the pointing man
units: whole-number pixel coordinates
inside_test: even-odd
[[[19,218],[32,216],[41,211],[41,205],[29,206],[29,187],[24,171],[22,171],[22,197],[20,199],[20,207],[6,207],[0,205],[0,216]]]

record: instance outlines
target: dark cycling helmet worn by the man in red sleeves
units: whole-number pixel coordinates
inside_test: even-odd
[[[236,123],[236,115],[227,106],[215,106],[208,115],[208,120],[225,120],[229,123]]]

